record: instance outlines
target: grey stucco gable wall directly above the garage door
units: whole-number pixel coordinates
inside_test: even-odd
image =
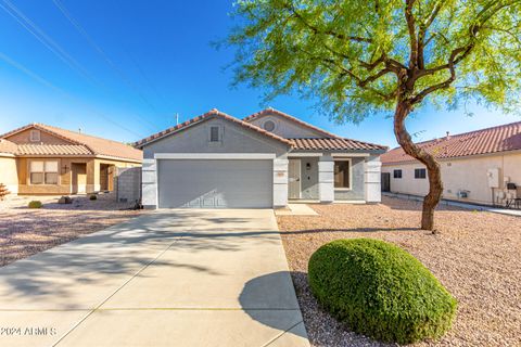
[[[223,127],[223,143],[208,143],[211,126]],[[253,130],[223,119],[209,119],[143,147],[143,157],[154,153],[275,153],[285,156],[288,146]]]

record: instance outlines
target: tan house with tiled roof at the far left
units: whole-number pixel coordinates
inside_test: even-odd
[[[115,167],[141,160],[130,145],[41,124],[0,136],[0,182],[14,194],[112,191]]]

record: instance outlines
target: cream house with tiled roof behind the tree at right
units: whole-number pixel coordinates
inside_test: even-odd
[[[521,121],[418,143],[442,168],[443,197],[506,204],[521,197]],[[381,156],[382,190],[424,196],[425,167],[398,147]],[[510,188],[510,189],[509,189]]]

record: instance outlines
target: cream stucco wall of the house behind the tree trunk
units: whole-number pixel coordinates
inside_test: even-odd
[[[501,187],[504,177],[509,177],[511,182],[518,187],[521,185],[521,153],[440,160],[440,164],[445,198],[491,204],[492,192],[487,179],[487,170],[491,168],[499,168]],[[391,192],[423,196],[429,192],[429,180],[415,179],[415,168],[421,167],[424,166],[421,164],[385,165],[382,166],[382,172],[391,175]],[[402,169],[402,179],[393,177],[394,169]],[[470,191],[469,197],[458,198],[457,194],[460,190]],[[518,195],[521,196],[519,189]]]

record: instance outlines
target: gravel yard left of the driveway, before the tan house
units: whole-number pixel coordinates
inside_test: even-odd
[[[0,202],[0,267],[142,213],[128,209],[132,204],[117,203],[112,194],[100,194],[94,201],[73,196],[72,204],[58,204],[59,197],[13,196]],[[27,208],[33,200],[43,206]]]

